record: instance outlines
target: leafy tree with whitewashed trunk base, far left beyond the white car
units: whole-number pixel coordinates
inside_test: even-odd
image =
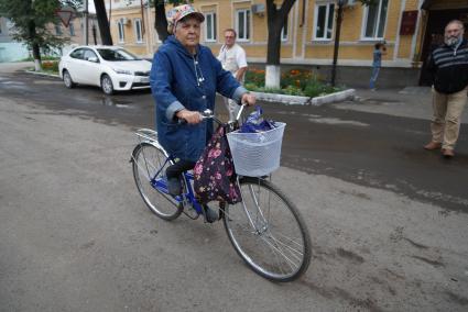
[[[0,0],[2,16],[13,23],[13,38],[23,42],[33,52],[35,70],[41,70],[41,51],[48,52],[62,47],[68,38],[62,38],[47,30],[51,23],[58,24],[55,11],[64,3],[75,1],[59,0]]]

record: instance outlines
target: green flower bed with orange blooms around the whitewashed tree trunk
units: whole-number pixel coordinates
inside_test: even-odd
[[[249,69],[246,75],[246,88],[251,91],[300,97],[320,97],[338,92],[341,88],[325,83],[311,70],[292,69],[281,75],[281,88],[265,88],[265,71]]]

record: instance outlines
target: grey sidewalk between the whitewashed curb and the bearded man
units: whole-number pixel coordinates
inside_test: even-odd
[[[339,109],[383,113],[395,116],[431,120],[432,91],[429,87],[406,87],[404,89],[356,89],[356,100],[334,104]],[[468,109],[464,110],[461,122],[468,123]]]

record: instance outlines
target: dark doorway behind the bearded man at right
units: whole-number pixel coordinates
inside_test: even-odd
[[[438,10],[429,11],[427,18],[426,34],[424,36],[423,52],[421,59],[424,62],[421,69],[420,85],[431,86],[432,77],[427,70],[427,57],[431,52],[444,43],[445,26],[451,20],[460,20],[465,23],[465,30],[468,29],[468,8],[458,10]],[[468,38],[468,32],[465,32]]]

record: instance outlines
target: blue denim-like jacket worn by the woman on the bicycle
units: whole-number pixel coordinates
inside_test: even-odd
[[[216,92],[237,101],[247,92],[208,47],[198,45],[196,55],[192,55],[174,36],[155,53],[150,83],[159,142],[172,156],[192,161],[199,158],[211,137],[213,121],[178,124],[174,114],[184,108],[214,110]]]

